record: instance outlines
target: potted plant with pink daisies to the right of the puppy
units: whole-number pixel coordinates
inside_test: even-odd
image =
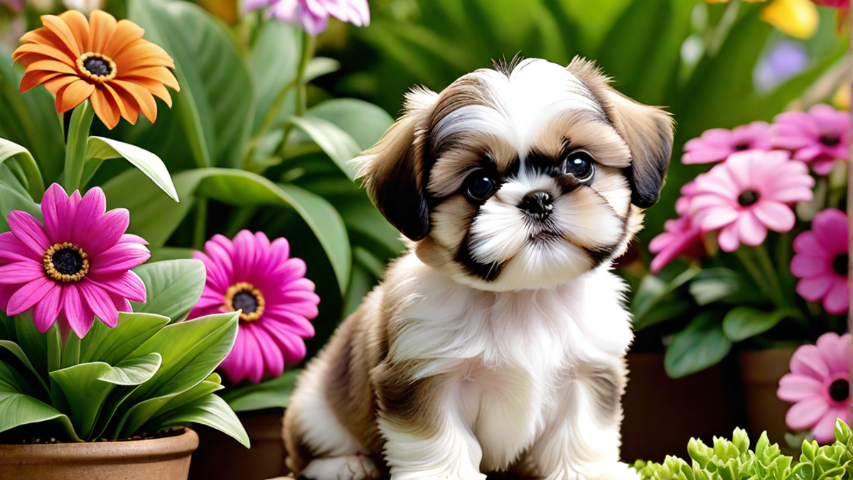
[[[675,378],[716,364],[740,343],[752,430],[785,433],[787,405],[776,389],[793,348],[846,329],[848,219],[838,208],[849,131],[849,113],[821,104],[772,125],[705,132],[685,145],[682,162],[715,165],[682,187],[680,216],[649,243],[651,270],[661,276],[642,279],[635,326],[693,313],[667,347]],[[686,268],[668,266],[679,256]]]

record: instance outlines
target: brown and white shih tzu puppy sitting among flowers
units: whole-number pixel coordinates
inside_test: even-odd
[[[637,478],[619,463],[633,334],[610,270],[672,133],[577,58],[410,92],[353,161],[409,249],[299,378],[296,476]]]

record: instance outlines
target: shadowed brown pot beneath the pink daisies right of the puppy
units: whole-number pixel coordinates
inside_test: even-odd
[[[770,348],[740,352],[740,381],[744,389],[746,424],[751,438],[757,439],[767,430],[770,442],[785,449],[785,414],[791,404],[779,400],[779,379],[789,372],[791,355],[796,348]]]

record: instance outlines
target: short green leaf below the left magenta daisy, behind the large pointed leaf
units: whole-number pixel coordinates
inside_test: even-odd
[[[95,322],[88,334],[80,341],[80,362],[102,361],[116,365],[131,354],[142,343],[154,337],[169,324],[169,317],[154,313],[119,312],[115,328]]]

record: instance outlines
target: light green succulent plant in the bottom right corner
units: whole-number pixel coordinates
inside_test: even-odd
[[[732,440],[714,437],[713,446],[690,439],[690,463],[667,456],[664,463],[637,460],[642,480],[850,480],[853,478],[853,432],[838,419],[832,445],[803,442],[799,460],[770,444],[767,432],[750,450],[745,430],[735,429]]]

